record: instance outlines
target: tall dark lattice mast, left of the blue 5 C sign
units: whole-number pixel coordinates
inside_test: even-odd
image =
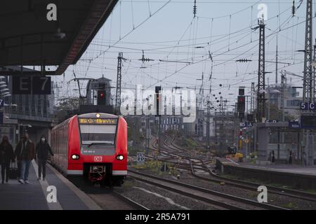
[[[258,93],[257,93],[257,120],[262,122],[265,116],[265,24],[258,20],[259,25],[259,59],[258,59]]]

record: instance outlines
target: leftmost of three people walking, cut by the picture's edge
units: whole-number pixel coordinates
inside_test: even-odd
[[[2,141],[0,144],[0,161],[1,161],[1,177],[2,183],[4,183],[4,179],[6,179],[6,183],[8,183],[8,176],[10,171],[10,162],[14,162],[14,153],[13,147],[8,141],[8,137],[5,135],[2,137]]]

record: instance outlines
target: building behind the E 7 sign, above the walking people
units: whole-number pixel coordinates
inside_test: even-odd
[[[0,69],[20,71],[20,66],[6,66]],[[23,68],[23,71],[34,70]],[[50,137],[54,112],[53,85],[49,85],[51,94],[13,94],[13,76],[4,76],[4,81],[11,96],[4,97],[4,118],[0,127],[0,137],[8,135],[13,145],[26,132],[35,142],[39,141],[41,134]]]

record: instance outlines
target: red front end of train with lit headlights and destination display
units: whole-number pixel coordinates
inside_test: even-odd
[[[127,174],[126,121],[112,114],[87,113],[78,116],[78,123],[84,176],[101,186],[120,186]]]

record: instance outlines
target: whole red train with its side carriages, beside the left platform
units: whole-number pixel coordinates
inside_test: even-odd
[[[53,128],[51,146],[51,162],[67,176],[120,186],[127,174],[127,124],[121,116],[73,116]]]

